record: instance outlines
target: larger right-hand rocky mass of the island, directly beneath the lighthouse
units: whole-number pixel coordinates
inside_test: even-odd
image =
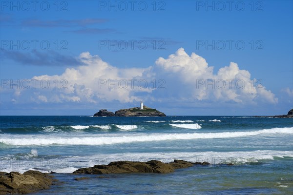
[[[144,106],[141,110],[138,107],[121,109],[115,112],[116,117],[166,117],[166,115],[156,109]]]

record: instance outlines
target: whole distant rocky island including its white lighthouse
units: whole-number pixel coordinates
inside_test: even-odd
[[[155,108],[149,108],[143,105],[141,101],[140,107],[127,108],[117,110],[115,113],[102,109],[94,117],[166,117],[166,115]]]

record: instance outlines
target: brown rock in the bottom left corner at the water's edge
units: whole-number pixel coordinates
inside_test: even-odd
[[[0,172],[0,194],[28,194],[39,190],[49,189],[53,176],[39,171]]]

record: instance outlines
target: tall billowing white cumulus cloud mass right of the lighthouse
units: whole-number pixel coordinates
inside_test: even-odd
[[[217,74],[213,73],[213,67],[207,61],[192,53],[190,56],[183,48],[167,59],[156,60],[156,72],[161,77],[167,78],[168,88],[174,93],[195,100],[232,101],[237,103],[256,103],[265,101],[277,103],[275,95],[251,79],[247,70],[241,70],[234,62],[229,66],[220,68]],[[256,85],[257,84],[257,85]]]

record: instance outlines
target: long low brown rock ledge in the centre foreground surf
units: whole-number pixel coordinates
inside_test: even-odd
[[[184,160],[174,160],[170,163],[163,163],[159,160],[147,162],[117,161],[108,165],[95,165],[89,168],[81,168],[73,174],[125,174],[125,173],[160,173],[167,174],[174,169],[191,167],[192,163]]]

